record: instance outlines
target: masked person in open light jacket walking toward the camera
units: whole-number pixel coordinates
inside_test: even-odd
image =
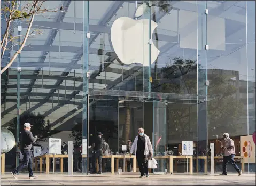
[[[149,177],[148,159],[153,157],[153,148],[149,136],[144,133],[143,128],[138,129],[138,135],[131,146],[130,156],[135,152],[141,177]]]

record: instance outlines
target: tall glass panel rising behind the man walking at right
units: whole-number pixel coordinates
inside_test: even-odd
[[[239,156],[246,156],[241,149],[249,135],[249,104],[244,100],[249,98],[248,84],[255,83],[255,79],[247,79],[250,70],[247,63],[246,1],[207,1],[207,9],[208,95],[218,95],[217,99],[208,101],[208,140],[215,143],[215,173],[221,173],[223,160],[219,156],[224,153],[220,148],[224,144],[223,133],[229,133],[234,140],[235,162],[242,168]],[[244,172],[249,171],[247,165]],[[230,164],[227,171],[236,173]]]

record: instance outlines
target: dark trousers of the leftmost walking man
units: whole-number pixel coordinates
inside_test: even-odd
[[[17,168],[15,168],[13,173],[17,174],[22,169],[24,169],[25,167],[28,166],[28,174],[29,174],[29,176],[33,176],[31,152],[28,151],[28,150],[21,150],[21,153],[23,155],[23,162]]]

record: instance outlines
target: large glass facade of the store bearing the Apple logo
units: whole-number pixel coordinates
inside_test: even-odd
[[[77,159],[86,174],[98,131],[111,155],[121,155],[143,127],[158,161],[153,173],[207,174],[210,143],[215,173],[221,172],[220,143],[229,133],[238,166],[242,157],[243,171],[255,172],[255,1],[48,5],[64,11],[36,15],[33,29],[42,34],[29,38],[1,75],[1,127],[16,140],[30,122],[33,134],[41,136],[42,155],[49,153],[49,138],[73,141],[87,149],[87,156]],[[27,22],[20,24],[25,33]],[[18,35],[18,25],[13,27]],[[5,53],[1,68],[15,50]],[[183,142],[193,144],[191,160],[182,156]],[[15,166],[15,151],[5,155],[6,171]],[[111,158],[103,159],[104,171],[111,172]],[[127,169],[122,158],[114,161],[115,172],[129,171],[129,158]],[[60,164],[57,158],[56,172]],[[52,172],[53,161],[50,167]],[[228,171],[235,170],[228,166]]]

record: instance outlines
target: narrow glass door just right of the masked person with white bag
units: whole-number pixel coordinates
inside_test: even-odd
[[[154,174],[167,174],[168,172],[168,104],[165,102],[153,102],[153,133],[152,145],[154,158],[158,167],[153,169]]]

